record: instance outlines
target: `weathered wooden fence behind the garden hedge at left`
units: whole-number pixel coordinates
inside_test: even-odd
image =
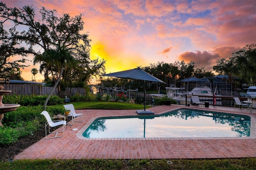
[[[42,85],[33,84],[3,84],[4,90],[10,90],[8,95],[48,95],[53,87],[46,87]],[[65,96],[71,97],[79,93],[80,95],[85,95],[84,88],[66,88],[66,91],[58,91],[56,87],[52,95],[56,95],[64,98]]]

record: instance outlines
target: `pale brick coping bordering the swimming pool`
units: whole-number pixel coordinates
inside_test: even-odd
[[[82,127],[77,133],[76,136],[79,139],[82,140],[200,140],[200,139],[255,139],[256,138],[256,127],[252,126],[252,125],[256,125],[256,119],[253,115],[247,115],[244,113],[234,113],[231,111],[218,111],[218,110],[212,110],[212,109],[207,109],[207,108],[198,108],[198,107],[186,107],[183,105],[178,105],[179,107],[174,108],[174,109],[170,109],[168,111],[164,111],[164,112],[160,112],[160,113],[155,113],[154,115],[164,115],[168,112],[171,111],[175,111],[178,109],[196,109],[196,110],[202,110],[202,111],[214,111],[214,112],[218,112],[218,113],[227,113],[227,114],[234,114],[234,115],[244,115],[244,116],[249,116],[251,118],[251,130],[250,130],[250,136],[245,136],[245,137],[161,137],[161,138],[86,138],[84,137],[82,134],[83,132],[96,120],[96,119],[102,119],[102,118],[110,118],[110,117],[132,117],[132,116],[136,116],[136,117],[146,117],[146,116],[152,116],[152,115],[138,115],[138,114],[134,114],[134,115],[112,115],[112,116],[98,116],[98,117],[94,117],[92,119],[90,119],[90,121],[88,121],[86,123],[86,125],[84,125],[84,127]],[[234,110],[236,111],[236,110]]]

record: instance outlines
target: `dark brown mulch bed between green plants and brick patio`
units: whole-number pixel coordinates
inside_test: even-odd
[[[68,117],[67,121],[70,120],[71,117]],[[54,128],[51,128],[51,130],[54,130]],[[38,142],[42,138],[45,138],[45,126],[42,127],[40,130],[34,132],[31,136],[26,136],[19,139],[14,144],[8,146],[0,146],[0,162],[12,162],[14,160],[14,156],[22,152],[24,149],[28,148],[32,144]]]

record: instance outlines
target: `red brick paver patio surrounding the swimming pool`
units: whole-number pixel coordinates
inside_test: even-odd
[[[181,105],[149,110],[160,114]],[[193,106],[185,108],[194,108]],[[60,138],[42,138],[14,159],[162,159],[162,158],[242,158],[256,157],[256,112],[245,109],[196,108],[251,116],[250,137],[228,138],[84,138],[80,134],[96,117],[137,115],[135,110],[83,110],[84,121],[67,126]],[[74,131],[73,128],[78,128]]]

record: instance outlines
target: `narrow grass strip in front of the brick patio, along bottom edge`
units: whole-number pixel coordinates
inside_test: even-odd
[[[1,162],[0,169],[14,170],[158,170],[158,169],[186,169],[186,170],[253,170],[256,167],[256,158],[230,158],[230,159],[143,159],[143,160],[15,160],[14,162]]]

